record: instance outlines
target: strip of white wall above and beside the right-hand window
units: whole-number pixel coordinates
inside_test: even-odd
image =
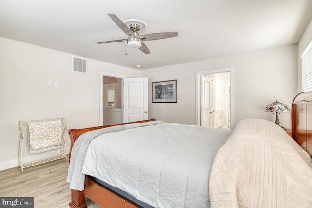
[[[312,41],[312,20],[307,26],[298,44],[298,93],[302,92],[302,58],[300,58],[300,56],[310,41]]]

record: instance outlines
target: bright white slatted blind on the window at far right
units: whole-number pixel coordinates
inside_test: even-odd
[[[302,91],[312,91],[312,40],[302,53]]]

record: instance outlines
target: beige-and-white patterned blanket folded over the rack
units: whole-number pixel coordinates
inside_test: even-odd
[[[30,153],[39,153],[59,148],[62,144],[62,122],[40,121],[28,123]]]

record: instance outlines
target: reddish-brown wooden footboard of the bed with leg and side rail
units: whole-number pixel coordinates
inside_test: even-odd
[[[156,120],[149,119],[149,120],[144,120],[144,121],[124,123],[124,124],[144,123],[144,122],[150,122],[150,121],[156,121]],[[107,128],[107,127],[116,126],[116,125],[124,125],[124,124],[103,125],[103,126],[83,128],[83,129],[70,129],[68,131],[70,140],[71,140],[69,160],[71,157],[73,145],[80,135],[88,131],[93,131],[93,130]],[[69,207],[71,208],[86,208],[87,206],[85,205],[85,196],[91,199],[93,202],[97,203],[102,208],[137,208],[139,207],[136,204],[130,202],[129,200],[121,197],[117,193],[111,191],[110,189],[101,186],[100,184],[98,184],[97,182],[95,182],[88,176],[86,176],[85,178],[83,191],[73,190],[73,189],[71,191],[72,191],[72,201],[69,203]]]

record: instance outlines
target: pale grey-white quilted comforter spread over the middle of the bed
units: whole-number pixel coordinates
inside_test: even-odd
[[[231,133],[170,123],[105,133],[91,141],[82,173],[153,207],[207,208],[211,165]]]

